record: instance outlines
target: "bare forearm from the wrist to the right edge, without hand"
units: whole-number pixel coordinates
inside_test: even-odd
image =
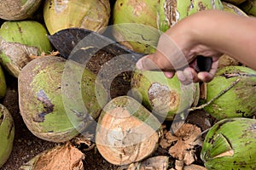
[[[195,42],[215,48],[256,69],[254,18],[208,10],[194,14],[189,20]]]

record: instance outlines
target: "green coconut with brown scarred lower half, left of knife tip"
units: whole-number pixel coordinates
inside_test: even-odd
[[[47,30],[37,21],[5,21],[0,29],[0,61],[7,71],[18,77],[32,60],[31,55],[49,54],[52,46]]]

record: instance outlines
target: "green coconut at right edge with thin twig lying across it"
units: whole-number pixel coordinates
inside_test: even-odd
[[[230,75],[230,77],[227,77]],[[232,76],[233,74],[233,76]],[[242,76],[247,74],[247,76]],[[230,87],[238,78],[240,81],[211,105],[204,108],[218,120],[228,117],[249,117],[256,111],[256,71],[243,66],[226,66],[217,71],[211,82],[207,82],[207,101]]]

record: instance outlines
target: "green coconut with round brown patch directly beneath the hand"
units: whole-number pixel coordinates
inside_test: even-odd
[[[135,71],[131,77],[132,96],[156,116],[172,121],[177,113],[195,106],[199,99],[199,83],[183,85],[175,75],[166,78],[160,71]]]

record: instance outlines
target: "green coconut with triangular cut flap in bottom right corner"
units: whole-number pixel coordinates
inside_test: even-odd
[[[255,139],[255,119],[224,119],[208,131],[202,145],[201,159],[209,170],[255,169]]]

